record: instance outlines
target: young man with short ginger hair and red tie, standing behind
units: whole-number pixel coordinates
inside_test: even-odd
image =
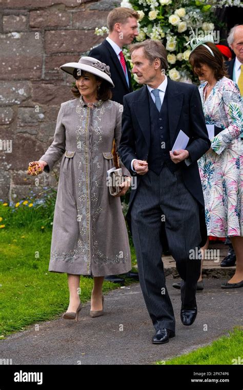
[[[123,97],[132,92],[131,72],[123,54],[123,46],[132,43],[138,35],[137,20],[139,15],[130,8],[118,7],[109,12],[107,26],[108,37],[99,46],[93,48],[89,56],[109,65],[111,79],[115,85],[112,89],[112,100],[123,104]],[[116,159],[115,147],[112,153]],[[126,276],[138,280],[137,272],[128,272]],[[117,275],[105,277],[113,283],[124,283],[124,279]]]

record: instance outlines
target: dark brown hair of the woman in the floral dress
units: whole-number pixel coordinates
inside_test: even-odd
[[[224,76],[229,77],[221,51],[218,50],[214,43],[206,42],[205,45],[212,50],[214,56],[207,47],[203,45],[198,46],[189,56],[189,63],[193,72],[200,76],[200,67],[208,65],[212,69],[216,80],[220,80]]]

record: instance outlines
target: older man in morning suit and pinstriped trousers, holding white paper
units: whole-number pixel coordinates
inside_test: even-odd
[[[130,45],[130,52],[132,72],[145,85],[124,96],[119,154],[137,177],[127,220],[141,290],[156,330],[152,342],[164,344],[175,336],[175,318],[161,260],[161,221],[165,220],[169,249],[182,279],[181,322],[191,325],[197,315],[200,247],[207,240],[197,160],[211,143],[198,88],[164,74],[168,63],[163,44],[146,40]],[[172,153],[180,130],[188,135],[188,145]]]

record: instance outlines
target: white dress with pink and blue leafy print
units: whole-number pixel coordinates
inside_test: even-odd
[[[206,124],[223,130],[199,160],[208,236],[243,236],[243,159],[241,97],[237,85],[222,77],[205,100],[208,82],[199,86]]]

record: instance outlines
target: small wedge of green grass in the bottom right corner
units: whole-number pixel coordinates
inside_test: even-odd
[[[156,364],[240,364],[238,361],[242,357],[243,328],[235,328],[233,332],[229,332],[229,336],[223,336],[206,347],[177,358],[158,361]]]

